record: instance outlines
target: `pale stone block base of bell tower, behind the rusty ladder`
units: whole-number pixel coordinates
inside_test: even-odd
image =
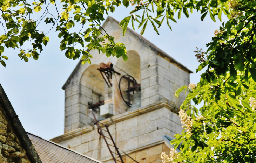
[[[180,133],[182,127],[178,115],[172,112],[170,108],[154,109],[154,106],[152,107],[126,112],[112,117],[112,121],[109,118],[101,121],[101,123],[110,124],[108,128],[114,137],[114,122],[116,122],[116,145],[119,149],[139,162],[160,163],[161,152],[169,150],[165,147],[162,136]],[[96,126],[91,128],[86,133],[81,132],[77,136],[72,135],[78,133],[79,129],[51,141],[107,163],[111,160],[111,156],[106,143],[97,133]],[[112,143],[109,142],[109,144]],[[123,158],[127,163],[132,162],[124,155]]]

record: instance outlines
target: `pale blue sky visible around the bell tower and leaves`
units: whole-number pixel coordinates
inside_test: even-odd
[[[129,16],[133,7],[118,7],[109,15],[121,21]],[[105,16],[106,18],[107,16]],[[211,41],[215,29],[221,22],[213,22],[209,15],[202,22],[200,13],[194,11],[187,18],[181,16],[178,23],[171,22],[172,31],[166,23],[159,28],[157,35],[149,24],[143,35],[147,40],[165,51],[178,62],[192,70],[191,83],[198,83],[200,73],[195,69],[197,62],[194,51],[196,47],[206,50],[206,43]],[[226,20],[226,19],[223,19]],[[41,23],[42,30],[49,28]],[[131,27],[131,24],[130,26]],[[136,30],[140,33],[141,29]],[[50,41],[41,52],[38,61],[29,59],[28,63],[20,61],[18,51],[5,50],[8,56],[6,68],[0,66],[0,83],[11,101],[19,119],[27,132],[51,139],[64,133],[64,90],[62,85],[79,62],[67,59],[64,51],[59,49],[58,33],[52,30]],[[2,29],[0,35],[4,34]],[[23,47],[26,49],[25,47]]]

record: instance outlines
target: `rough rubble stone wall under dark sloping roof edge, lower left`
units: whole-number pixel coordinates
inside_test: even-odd
[[[0,105],[0,162],[30,163],[25,149]]]

